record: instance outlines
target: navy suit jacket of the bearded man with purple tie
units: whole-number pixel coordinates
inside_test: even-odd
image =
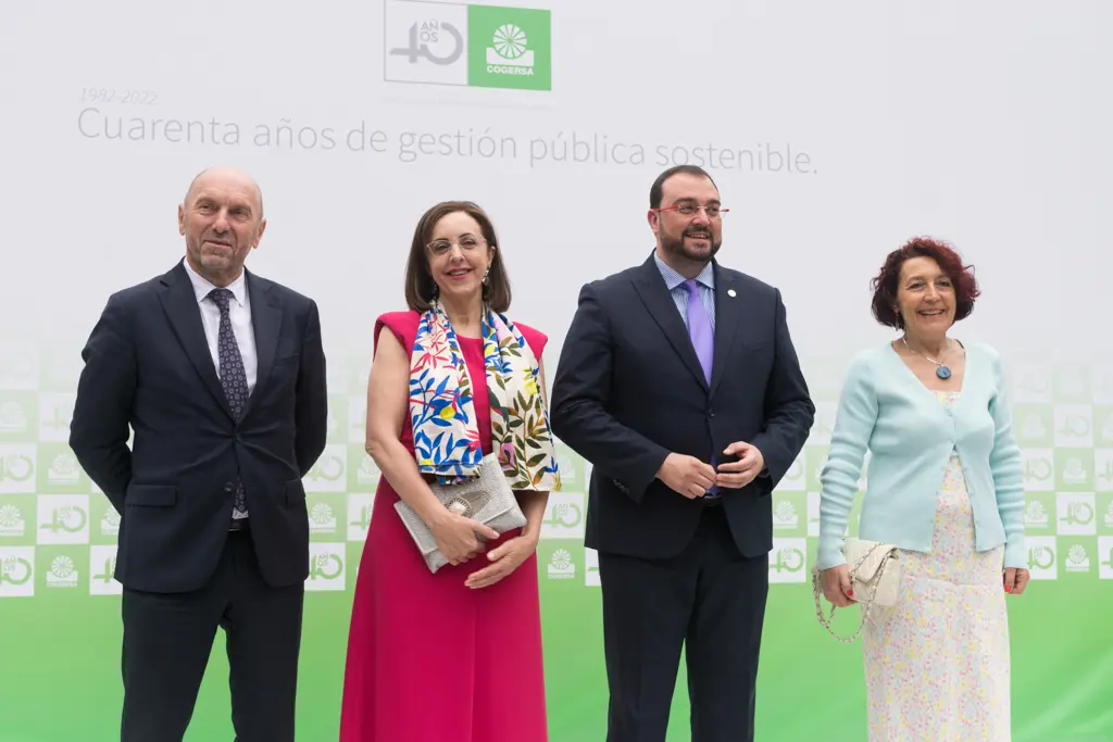
[[[715,263],[715,364],[708,384],[652,256],[580,293],[553,377],[554,434],[592,464],[585,544],[641,557],[679,554],[705,504],[656,478],[669,453],[710,462],[737,441],[766,462],[721,489],[739,551],[772,548],[770,494],[811,429],[815,405],[780,291]]]

